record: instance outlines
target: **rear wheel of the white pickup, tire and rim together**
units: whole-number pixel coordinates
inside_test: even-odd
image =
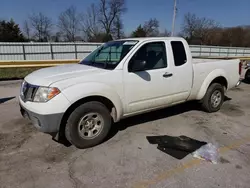
[[[202,107],[206,112],[217,112],[220,110],[224,98],[224,87],[221,84],[213,83],[202,99]]]

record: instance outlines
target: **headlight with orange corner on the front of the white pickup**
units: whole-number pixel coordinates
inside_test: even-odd
[[[56,87],[39,87],[35,93],[34,102],[47,102],[60,93]]]

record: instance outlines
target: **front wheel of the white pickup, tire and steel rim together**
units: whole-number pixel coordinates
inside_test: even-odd
[[[111,116],[100,102],[87,102],[77,107],[69,116],[65,136],[71,144],[84,149],[100,144],[108,135]]]

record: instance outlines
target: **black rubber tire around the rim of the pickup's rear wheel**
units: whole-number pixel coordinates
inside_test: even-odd
[[[213,106],[212,103],[212,95],[215,92],[219,92],[221,94],[221,100],[220,102],[218,102],[218,106]],[[202,99],[202,108],[204,109],[204,111],[212,113],[212,112],[217,112],[220,110],[221,105],[224,102],[224,98],[225,98],[225,93],[224,93],[224,87],[219,84],[219,83],[213,83],[209,86],[209,88],[207,89],[207,92],[205,94],[205,96]]]

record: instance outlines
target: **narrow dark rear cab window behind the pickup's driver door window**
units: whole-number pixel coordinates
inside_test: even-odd
[[[181,41],[171,41],[175,66],[182,66],[187,62],[185,47]]]

